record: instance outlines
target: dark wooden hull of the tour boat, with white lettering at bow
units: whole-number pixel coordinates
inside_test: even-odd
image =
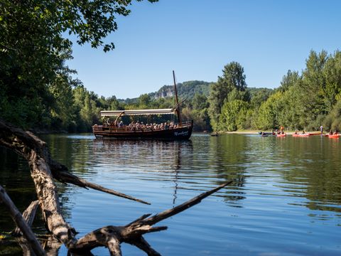
[[[178,140],[190,139],[193,130],[193,121],[183,124],[174,129],[157,130],[137,130],[131,131],[126,127],[106,127],[94,125],[92,132],[96,138],[102,139],[160,139],[160,140]]]

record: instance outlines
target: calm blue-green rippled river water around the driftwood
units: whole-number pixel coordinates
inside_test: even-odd
[[[247,134],[188,142],[117,142],[91,134],[43,136],[73,174],[141,198],[147,206],[58,183],[65,218],[85,235],[172,208],[224,181],[234,183],[164,220],[146,235],[161,255],[341,255],[341,141]],[[0,149],[0,181],[20,210],[35,198],[26,162]],[[44,233],[36,220],[35,232]],[[13,224],[0,208],[0,235]],[[122,245],[123,255],[143,255]],[[107,255],[107,250],[93,250]],[[0,241],[0,255],[21,255]],[[60,247],[59,255],[66,255]]]

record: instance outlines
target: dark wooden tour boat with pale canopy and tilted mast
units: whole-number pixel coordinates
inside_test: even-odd
[[[189,139],[193,130],[193,120],[182,122],[180,117],[180,103],[178,102],[178,92],[175,84],[175,74],[173,71],[174,91],[176,105],[172,109],[161,110],[114,110],[101,111],[101,117],[116,117],[115,121],[110,124],[92,126],[92,132],[96,138],[103,139],[163,139],[163,140],[178,140]],[[178,123],[173,126],[164,127],[163,129],[146,128],[146,129],[131,129],[131,127],[117,125],[119,117],[124,115],[159,115],[159,114],[176,114]]]

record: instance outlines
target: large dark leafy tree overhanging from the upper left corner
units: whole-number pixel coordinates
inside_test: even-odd
[[[65,60],[72,58],[72,43],[65,35],[75,35],[81,45],[111,50],[114,44],[104,38],[117,30],[116,17],[128,15],[130,4],[131,0],[1,0],[1,117],[22,127],[48,124],[59,111],[51,95],[55,88],[50,87],[70,74]]]

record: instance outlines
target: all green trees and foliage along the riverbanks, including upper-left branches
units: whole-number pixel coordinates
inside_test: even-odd
[[[114,43],[104,43],[104,38],[117,30],[116,16],[129,15],[130,2],[121,1],[117,8],[104,2],[4,0],[0,17],[0,117],[23,129],[90,132],[92,125],[102,124],[101,110],[175,107],[168,85],[135,99],[120,100],[114,89],[111,97],[103,97],[88,91],[75,79],[77,70],[66,64],[72,59],[72,41],[65,31],[78,38],[80,45],[89,43],[104,52],[114,50]],[[187,99],[181,105],[181,115],[194,121],[193,132],[279,126],[308,131],[321,125],[325,130],[341,130],[340,50],[310,50],[305,68],[283,70],[275,89],[248,87],[246,78],[242,65],[232,61],[224,65],[215,82],[178,84],[180,98]],[[122,117],[125,124],[137,121],[128,118]],[[157,117],[153,121],[172,120]]]

